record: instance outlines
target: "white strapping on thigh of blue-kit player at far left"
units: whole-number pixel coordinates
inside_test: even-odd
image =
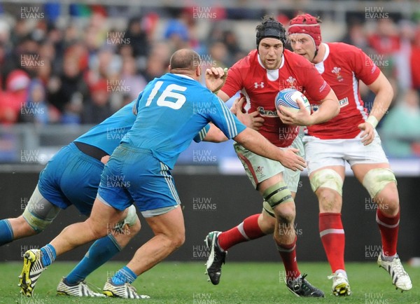
[[[61,209],[46,200],[36,186],[22,216],[29,226],[40,233],[50,226]]]

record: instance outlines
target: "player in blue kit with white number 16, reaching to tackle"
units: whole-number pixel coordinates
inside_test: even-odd
[[[206,71],[214,88],[220,87],[223,76],[220,68]],[[125,209],[135,204],[155,236],[106,282],[104,293],[142,298],[131,283],[184,242],[181,202],[170,170],[208,123],[214,123],[225,137],[235,139],[254,153],[278,160],[292,170],[303,170],[306,165],[297,156],[297,149],[276,148],[258,132],[245,127],[220,98],[200,84],[200,77],[200,56],[182,49],[172,55],[169,73],[148,83],[134,106],[137,118],[132,129],[104,167],[89,219],[66,227],[41,249],[25,253],[20,276],[22,293],[31,296],[38,277],[56,256],[103,237],[109,226],[121,221]]]

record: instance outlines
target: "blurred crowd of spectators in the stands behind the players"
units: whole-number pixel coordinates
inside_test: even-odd
[[[174,50],[197,50],[203,69],[230,67],[255,48],[255,26],[263,15],[275,15],[287,28],[300,12],[283,10],[280,2],[270,9],[237,2],[235,7],[191,1],[169,7],[1,3],[0,162],[13,162],[13,151],[22,151],[13,126],[71,130],[100,123],[165,74]],[[323,41],[363,49],[393,84],[393,104],[378,127],[388,156],[419,158],[420,2],[410,3],[409,13],[387,11],[378,2],[339,17],[317,11],[313,2],[305,11],[323,19]],[[369,109],[374,96],[364,86],[362,93]]]

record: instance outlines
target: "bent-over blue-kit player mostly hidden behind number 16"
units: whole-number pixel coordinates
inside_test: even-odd
[[[69,205],[74,205],[80,214],[89,216],[104,163],[134,123],[134,104],[127,104],[55,154],[41,172],[25,211],[16,218],[0,221],[0,246],[41,233]],[[201,141],[204,137],[207,141],[225,138],[220,130],[214,127],[209,130],[209,126],[194,140]],[[104,296],[92,291],[84,279],[121,251],[140,230],[134,205],[128,208],[123,221],[115,227],[109,226],[108,230],[109,235],[92,244],[83,260],[59,282],[57,293]]]

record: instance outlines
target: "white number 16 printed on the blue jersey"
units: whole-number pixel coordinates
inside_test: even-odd
[[[149,95],[146,106],[150,106],[153,98],[155,98],[156,94],[158,93],[158,90],[162,86],[163,81],[158,81],[155,84],[155,87],[153,88],[151,95]],[[162,92],[162,95],[158,98],[158,101],[156,102],[158,106],[169,106],[169,108],[172,108],[174,110],[181,109],[181,106],[186,102],[186,97],[180,93],[174,92],[174,90],[184,92],[187,90],[186,87],[183,87],[181,85],[168,85],[167,88]],[[175,101],[167,100],[167,97],[175,99]]]

